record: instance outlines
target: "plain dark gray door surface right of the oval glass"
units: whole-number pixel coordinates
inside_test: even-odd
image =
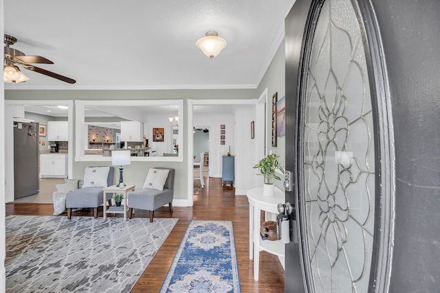
[[[440,1],[373,0],[395,135],[391,292],[439,292]]]

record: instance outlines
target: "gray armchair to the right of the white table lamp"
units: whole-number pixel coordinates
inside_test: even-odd
[[[168,169],[168,177],[166,178],[164,190],[156,189],[138,189],[128,194],[129,218],[133,215],[133,209],[144,209],[150,211],[150,222],[153,222],[155,209],[169,204],[170,212],[173,213],[173,197],[174,197],[174,175],[175,169],[154,167],[154,169]]]

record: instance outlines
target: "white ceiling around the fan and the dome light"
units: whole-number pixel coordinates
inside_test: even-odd
[[[5,0],[14,49],[67,84],[23,69],[5,89],[254,89],[284,36],[294,0]],[[210,60],[196,41],[208,30],[228,46]]]

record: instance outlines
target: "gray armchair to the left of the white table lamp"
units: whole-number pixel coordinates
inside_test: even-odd
[[[107,176],[107,186],[113,185],[113,176],[115,167],[109,169]],[[102,204],[102,196],[104,187],[83,187],[72,190],[66,194],[67,219],[72,217],[72,209],[75,208],[94,208],[94,217],[98,218],[98,207]],[[111,194],[107,194],[107,201],[111,205]]]

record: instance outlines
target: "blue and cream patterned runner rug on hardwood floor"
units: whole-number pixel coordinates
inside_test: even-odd
[[[241,292],[232,222],[192,220],[160,292]]]

